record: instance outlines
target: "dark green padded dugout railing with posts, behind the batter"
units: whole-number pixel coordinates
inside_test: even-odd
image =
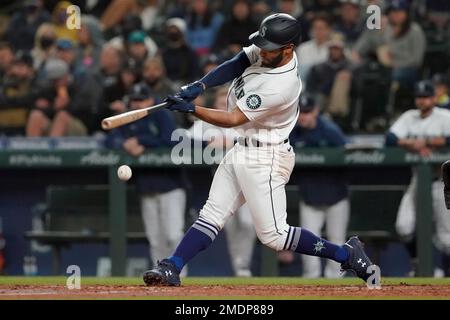
[[[191,155],[194,157],[194,154]],[[367,170],[384,167],[415,167],[418,175],[417,188],[417,244],[419,264],[418,276],[433,275],[432,259],[432,167],[450,159],[450,149],[433,153],[429,158],[405,152],[397,148],[374,150],[345,149],[298,149],[296,165],[308,167],[367,168]],[[192,161],[194,163],[194,161]],[[123,276],[126,267],[127,252],[127,184],[117,179],[117,167],[128,164],[132,167],[173,168],[170,150],[154,150],[140,157],[133,158],[125,153],[111,150],[12,150],[0,149],[0,170],[39,168],[77,170],[94,168],[108,171],[108,206],[109,206],[109,246],[112,262],[112,275]],[[208,167],[204,163],[184,164],[189,167]],[[375,170],[376,171],[376,170]],[[396,179],[395,176],[391,177]],[[271,256],[267,262],[270,264]],[[263,269],[264,271],[264,269]]]

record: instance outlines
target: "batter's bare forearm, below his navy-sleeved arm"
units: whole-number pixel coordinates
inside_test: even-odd
[[[232,128],[250,121],[238,107],[228,112],[195,106],[194,115],[203,121],[222,128]]]

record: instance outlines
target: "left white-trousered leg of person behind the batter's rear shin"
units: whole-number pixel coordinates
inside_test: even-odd
[[[324,222],[325,213],[323,210],[300,201],[300,224],[303,228],[320,236]],[[322,268],[320,258],[304,255],[302,256],[302,263],[303,277],[319,278],[321,276]]]

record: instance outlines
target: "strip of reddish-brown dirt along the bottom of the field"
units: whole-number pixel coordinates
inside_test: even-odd
[[[386,285],[379,290],[366,286],[320,286],[320,285],[188,285],[182,287],[146,287],[95,285],[81,286],[80,290],[69,290],[58,285],[1,285],[0,299],[111,299],[142,297],[197,298],[440,298],[450,299],[448,285]]]

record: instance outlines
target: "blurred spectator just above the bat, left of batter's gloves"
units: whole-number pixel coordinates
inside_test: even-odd
[[[159,57],[145,61],[142,77],[152,90],[153,95],[160,100],[164,100],[169,94],[175,92],[175,87],[167,78],[164,64]]]

